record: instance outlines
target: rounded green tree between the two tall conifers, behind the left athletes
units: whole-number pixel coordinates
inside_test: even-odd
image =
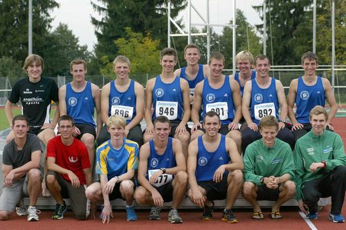
[[[79,40],[64,23],[46,35],[41,55],[44,58],[46,76],[70,75],[70,62],[75,58],[89,61],[91,53],[87,46],[80,46]]]

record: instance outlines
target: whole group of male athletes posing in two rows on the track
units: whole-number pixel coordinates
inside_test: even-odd
[[[182,223],[177,209],[185,196],[203,208],[203,220],[212,218],[214,200],[226,199],[222,220],[235,223],[232,207],[242,193],[253,220],[264,219],[257,200],[275,201],[269,217],[282,220],[281,205],[295,196],[306,217],[316,219],[319,198],[331,196],[329,220],[344,222],[346,155],[331,126],[337,111],[331,85],[316,76],[318,57],[302,55],[304,75],[292,80],[287,100],[265,55],[239,52],[239,72],[230,76],[222,73],[220,52],[199,64],[199,48],[189,44],[184,58],[188,66],[174,71],[176,50],[163,49],[162,72],[144,89],[129,78],[130,61],[120,55],[113,61],[116,79],[100,90],[86,81],[82,59],[71,61],[72,82],[57,88],[41,76],[42,57],[29,55],[28,77],[13,86],[5,107],[12,131],[3,149],[0,220],[15,211],[39,220],[42,193],[56,201],[55,220],[64,218],[70,198],[78,220],[95,218],[102,204],[100,219],[109,222],[111,200],[119,198],[128,221],[138,220],[136,200],[150,206],[150,220],[160,220],[164,202],[172,202],[168,220]],[[23,115],[14,117],[19,100]]]

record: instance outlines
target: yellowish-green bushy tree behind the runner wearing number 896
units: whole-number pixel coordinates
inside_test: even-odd
[[[160,50],[158,39],[152,39],[151,35],[143,36],[139,32],[133,32],[131,28],[125,28],[126,35],[117,39],[114,43],[121,55],[125,55],[131,61],[131,73],[160,73]],[[104,75],[113,74],[113,61],[101,69]]]

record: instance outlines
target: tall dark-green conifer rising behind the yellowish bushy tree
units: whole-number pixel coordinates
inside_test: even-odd
[[[160,48],[167,44],[166,0],[98,0],[99,5],[91,3],[103,15],[101,20],[91,18],[98,39],[95,46],[95,56],[98,59],[110,62],[116,57],[118,48],[113,41],[125,35],[126,27],[143,35],[149,32],[161,42]],[[172,17],[176,17],[185,8],[185,3],[186,0],[172,1]],[[99,64],[102,66],[102,61]]]

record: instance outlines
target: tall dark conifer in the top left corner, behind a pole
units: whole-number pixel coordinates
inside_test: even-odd
[[[44,44],[53,20],[50,12],[59,4],[54,0],[33,1],[33,52],[38,53]],[[28,1],[0,1],[0,57],[23,61],[28,55]]]

